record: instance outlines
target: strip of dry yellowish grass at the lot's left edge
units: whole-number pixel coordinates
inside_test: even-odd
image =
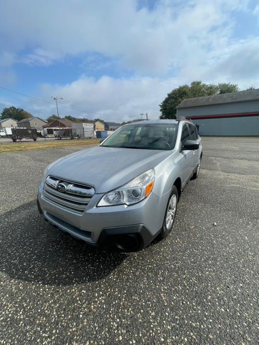
[[[83,140],[52,140],[46,142],[29,142],[29,143],[0,143],[0,153],[17,152],[17,151],[32,151],[53,149],[66,146],[78,145],[97,145],[100,139],[83,139]]]

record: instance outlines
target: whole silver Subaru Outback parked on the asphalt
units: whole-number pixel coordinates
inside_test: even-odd
[[[190,121],[127,124],[99,146],[52,163],[39,186],[38,209],[55,228],[88,244],[140,250],[171,232],[201,158],[201,138]]]

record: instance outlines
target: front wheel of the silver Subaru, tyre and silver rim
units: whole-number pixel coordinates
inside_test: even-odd
[[[177,204],[178,204],[178,191],[176,186],[172,188],[167,206],[165,211],[165,218],[163,227],[161,229],[160,237],[161,239],[166,238],[174,226],[176,211],[177,211]]]

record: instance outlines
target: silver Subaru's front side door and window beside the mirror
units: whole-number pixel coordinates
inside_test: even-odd
[[[183,186],[188,181],[188,178],[193,171],[193,152],[192,150],[184,150],[184,144],[187,140],[190,140],[190,132],[187,123],[183,124],[182,134],[181,134],[181,170],[183,177]]]

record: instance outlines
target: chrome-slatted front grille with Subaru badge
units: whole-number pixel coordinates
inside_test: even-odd
[[[95,190],[93,187],[48,176],[44,185],[44,197],[63,209],[82,214]]]

